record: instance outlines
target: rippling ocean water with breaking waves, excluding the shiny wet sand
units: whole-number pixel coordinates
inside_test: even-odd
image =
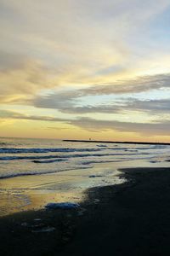
[[[169,166],[170,146],[0,138],[0,178],[93,168],[97,163]],[[129,163],[130,162],[130,163]],[[123,165],[124,166],[124,165]]]

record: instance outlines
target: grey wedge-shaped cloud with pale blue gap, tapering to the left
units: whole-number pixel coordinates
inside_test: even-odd
[[[46,96],[37,96],[31,104],[37,108],[54,108],[62,113],[121,113],[122,111],[143,111],[147,113],[168,113],[170,98],[140,100],[129,97],[131,93],[170,89],[170,74],[147,76],[122,81],[120,84],[91,86],[82,90],[65,90]],[[127,97],[122,99],[122,95]],[[115,102],[93,103],[93,96],[119,96]],[[91,103],[83,103],[83,97],[92,96]],[[82,106],[81,106],[82,105]]]

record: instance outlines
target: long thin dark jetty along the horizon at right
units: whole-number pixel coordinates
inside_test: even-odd
[[[63,140],[63,142],[71,142],[71,143],[116,143],[116,144],[170,145],[170,143],[112,142],[112,141],[95,141],[95,140]]]

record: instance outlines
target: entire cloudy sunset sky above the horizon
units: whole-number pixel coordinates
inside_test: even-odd
[[[0,0],[0,137],[170,142],[169,0]]]

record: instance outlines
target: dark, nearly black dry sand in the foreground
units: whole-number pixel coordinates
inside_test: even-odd
[[[170,255],[170,168],[124,169],[122,176],[127,183],[88,189],[86,211],[0,218],[1,255]],[[55,230],[37,232],[47,227]]]

